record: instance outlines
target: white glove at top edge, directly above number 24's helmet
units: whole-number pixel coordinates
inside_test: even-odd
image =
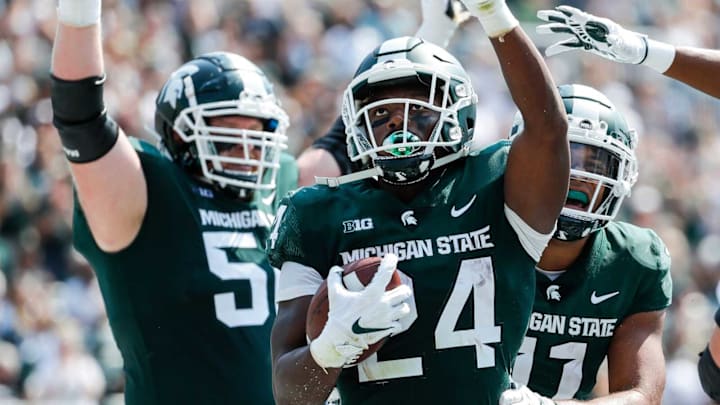
[[[446,47],[455,29],[470,18],[460,0],[420,0],[422,24],[416,37]]]

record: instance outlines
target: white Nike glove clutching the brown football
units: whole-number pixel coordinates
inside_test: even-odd
[[[387,254],[377,273],[362,291],[349,291],[342,283],[342,267],[328,274],[328,320],[320,335],[310,342],[310,353],[322,368],[352,364],[368,348],[402,329],[399,320],[410,314],[405,302],[412,290],[401,285],[385,287],[397,267],[398,258]]]

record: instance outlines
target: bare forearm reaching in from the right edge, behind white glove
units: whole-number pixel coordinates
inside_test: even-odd
[[[720,98],[720,50],[676,47],[675,59],[665,76]]]

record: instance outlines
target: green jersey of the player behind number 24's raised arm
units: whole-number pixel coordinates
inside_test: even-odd
[[[670,305],[670,256],[655,232],[610,222],[554,281],[537,277],[513,378],[556,399],[587,399],[626,317]]]

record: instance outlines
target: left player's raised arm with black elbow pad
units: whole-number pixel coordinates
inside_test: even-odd
[[[52,53],[54,124],[95,242],[132,242],[147,207],[145,177],[127,137],[107,116],[100,0],[60,0]]]

